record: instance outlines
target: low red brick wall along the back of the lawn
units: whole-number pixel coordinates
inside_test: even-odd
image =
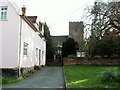
[[[63,60],[64,65],[69,64],[87,64],[87,65],[120,65],[120,59],[68,59]]]

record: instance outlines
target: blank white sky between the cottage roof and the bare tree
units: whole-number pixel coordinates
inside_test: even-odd
[[[13,0],[19,7],[27,8],[26,15],[38,16],[46,22],[51,35],[68,35],[69,21],[83,21],[84,8],[94,0]]]

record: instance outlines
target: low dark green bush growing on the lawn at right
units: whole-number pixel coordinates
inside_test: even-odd
[[[103,71],[100,79],[101,82],[120,82],[120,72]]]

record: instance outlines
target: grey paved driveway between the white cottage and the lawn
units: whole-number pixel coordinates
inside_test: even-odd
[[[43,67],[31,77],[3,88],[64,88],[62,67]]]

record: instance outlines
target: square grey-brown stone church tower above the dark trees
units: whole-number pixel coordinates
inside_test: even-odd
[[[69,22],[69,36],[79,44],[79,50],[83,51],[84,25],[83,22]]]

